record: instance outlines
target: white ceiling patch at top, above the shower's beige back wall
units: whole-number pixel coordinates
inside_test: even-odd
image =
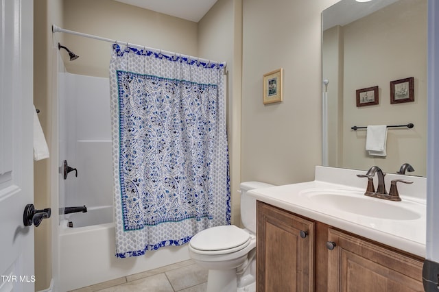
[[[198,23],[217,0],[116,0]]]

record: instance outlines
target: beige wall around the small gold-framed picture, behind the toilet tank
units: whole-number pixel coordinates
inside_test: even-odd
[[[241,180],[313,180],[322,162],[321,12],[336,0],[244,0]],[[283,67],[283,102],[263,74]]]

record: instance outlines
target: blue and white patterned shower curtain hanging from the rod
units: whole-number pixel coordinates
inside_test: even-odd
[[[230,224],[223,64],[113,45],[116,256]]]

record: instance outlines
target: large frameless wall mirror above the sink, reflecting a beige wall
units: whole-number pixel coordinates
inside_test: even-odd
[[[391,103],[391,86],[410,77],[414,99]],[[426,175],[427,0],[342,0],[324,10],[322,80],[322,165],[396,173],[407,162],[415,171],[406,174]],[[374,102],[358,104],[366,88]],[[408,123],[388,127],[386,156],[368,154],[366,129],[351,129]]]

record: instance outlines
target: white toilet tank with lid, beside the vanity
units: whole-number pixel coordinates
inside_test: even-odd
[[[241,221],[244,227],[256,234],[256,199],[247,192],[256,188],[269,188],[273,184],[265,182],[241,182]]]

